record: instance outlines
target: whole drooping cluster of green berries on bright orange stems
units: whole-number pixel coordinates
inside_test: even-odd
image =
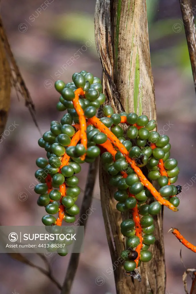
[[[35,186],[35,192],[40,194],[37,203],[45,206],[48,213],[42,222],[54,229],[63,220],[75,222],[79,213],[75,201],[80,193],[75,174],[81,171],[81,163],[91,163],[101,154],[104,169],[111,176],[110,184],[117,187],[117,210],[129,211],[129,219],[121,223],[121,232],[127,238],[127,250],[122,252],[124,269],[131,272],[152,258],[148,249],[155,242],[153,216],[162,205],[177,211],[176,195],[180,191],[173,185],[179,173],[177,161],[170,158],[169,137],[153,131],[155,120],[136,113],[114,113],[108,105],[102,107],[104,116],[97,118],[96,112],[105,101],[101,80],[86,71],[75,73],[72,80],[55,83],[61,94],[57,110],[67,113],[60,123],[52,121],[50,131],[38,141],[48,158],[36,160],[39,169],[35,176],[40,182]],[[122,124],[128,126],[126,133]],[[155,201],[145,204],[150,197]]]

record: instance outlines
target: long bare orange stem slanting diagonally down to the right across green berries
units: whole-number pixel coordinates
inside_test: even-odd
[[[97,117],[93,116],[92,118],[89,118],[88,121],[89,123],[94,125],[96,128],[98,128],[101,132],[107,135],[107,137],[114,144],[114,146],[116,146],[119,149],[119,151],[123,154],[123,156],[126,158],[127,162],[130,164],[134,172],[139,177],[140,182],[142,182],[142,184],[151,192],[151,194],[155,197],[155,199],[159,201],[161,204],[170,208],[171,210],[178,211],[178,209],[174,207],[172,203],[162,198],[160,193],[147,180],[147,178],[144,176],[140,168],[136,165],[135,161],[129,157],[127,149],[119,141],[119,139],[116,136],[114,136],[114,134],[101,121],[99,121]]]

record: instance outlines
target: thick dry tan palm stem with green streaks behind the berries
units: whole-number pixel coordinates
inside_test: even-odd
[[[95,36],[103,66],[105,104],[110,104],[116,113],[135,112],[147,115],[149,120],[156,119],[145,0],[97,0]],[[139,283],[124,276],[120,258],[125,249],[125,238],[120,231],[124,216],[116,209],[115,190],[109,186],[109,177],[101,163],[99,183],[117,294],[165,293],[162,212],[154,217],[157,241],[150,247],[152,260],[139,267],[142,276]]]

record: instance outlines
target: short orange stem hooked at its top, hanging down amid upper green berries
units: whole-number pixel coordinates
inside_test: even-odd
[[[84,111],[82,107],[80,106],[79,103],[79,95],[84,95],[84,91],[82,88],[78,88],[75,91],[75,98],[73,100],[73,105],[74,108],[77,112],[77,115],[79,116],[79,123],[80,123],[80,139],[81,139],[81,144],[84,145],[85,149],[87,149],[87,123],[86,123],[86,118],[84,116]],[[81,160],[85,159],[85,154],[81,156]]]

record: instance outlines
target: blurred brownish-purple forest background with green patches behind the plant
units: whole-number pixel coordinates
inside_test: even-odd
[[[36,106],[41,132],[49,130],[51,120],[60,120],[56,111],[59,95],[55,80],[71,81],[72,74],[87,70],[101,77],[102,69],[94,42],[95,0],[2,0],[1,15],[11,48]],[[49,4],[48,4],[49,3]],[[193,1],[194,13],[196,1]],[[41,9],[40,9],[41,8]],[[182,245],[171,234],[179,228],[185,237],[196,243],[196,99],[189,55],[178,0],[147,0],[150,50],[155,81],[157,120],[160,134],[167,134],[172,144],[171,157],[178,160],[180,175],[177,184],[184,186],[180,210],[164,209],[165,258],[167,293],[184,293],[180,262]],[[75,54],[75,55],[74,55]],[[79,56],[79,57],[76,57]],[[75,60],[71,58],[75,56]],[[18,101],[12,92],[11,110],[5,134],[0,143],[2,225],[42,225],[44,208],[36,204],[37,195],[29,188],[35,182],[36,158],[45,156],[37,144],[40,134],[23,98]],[[9,126],[15,124],[14,131]],[[11,128],[13,129],[13,128]],[[84,189],[88,165],[82,165],[80,187]],[[81,204],[83,194],[77,201]],[[97,179],[85,237],[84,253],[72,288],[72,294],[115,294]],[[43,264],[35,255],[28,258]],[[55,277],[63,282],[69,257],[50,258]],[[182,248],[186,268],[196,267],[196,255]],[[58,294],[59,290],[36,269],[0,254],[0,293]],[[95,279],[102,276],[102,286]],[[190,285],[190,284],[189,284]]]

